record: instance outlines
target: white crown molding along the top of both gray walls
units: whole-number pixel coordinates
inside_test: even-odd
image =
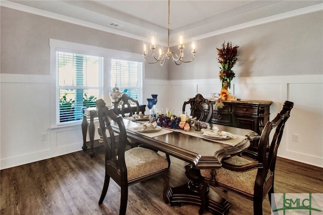
[[[79,20],[79,19],[68,17],[68,16],[64,16],[64,15],[60,15],[60,14],[56,14],[56,13],[52,13],[52,12],[32,8],[32,7],[29,7],[29,6],[24,6],[24,5],[21,5],[21,4],[14,3],[14,2],[0,1],[0,6],[10,8],[10,9],[14,9],[14,10],[18,10],[18,11],[23,11],[23,12],[26,12],[26,13],[31,13],[31,14],[43,16],[43,17],[47,17],[47,18],[51,18],[51,19],[56,19],[56,20],[60,20],[60,21],[63,21],[63,22],[68,22],[68,23],[72,23],[72,24],[76,24],[76,25],[80,25],[80,26],[84,26],[84,27],[88,27],[88,28],[92,28],[92,29],[96,29],[96,30],[101,30],[101,31],[104,31],[104,32],[109,32],[109,33],[117,34],[117,35],[120,35],[120,36],[129,37],[129,38],[132,38],[132,39],[137,39],[137,40],[149,42],[149,38],[146,38],[146,37],[143,37],[143,36],[127,33],[127,32],[124,32],[124,31],[121,31],[121,30],[118,30],[118,29],[113,29],[113,28],[102,26],[102,25],[93,24],[93,23],[86,22],[86,21],[83,21],[83,20]],[[228,32],[232,32],[232,31],[244,29],[244,28],[249,28],[249,27],[252,27],[252,26],[262,25],[262,24],[265,24],[265,23],[275,22],[275,21],[279,21],[279,20],[283,20],[283,19],[287,19],[287,18],[291,18],[291,17],[295,17],[295,16],[300,16],[300,15],[305,15],[305,14],[309,14],[309,13],[313,13],[313,12],[317,12],[317,11],[322,11],[322,10],[323,10],[323,4],[318,4],[318,5],[309,6],[309,7],[306,7],[306,8],[301,8],[301,9],[297,9],[297,10],[294,10],[294,11],[285,12],[285,13],[282,13],[282,14],[278,14],[278,15],[274,15],[274,16],[270,16],[270,17],[266,17],[266,18],[246,22],[246,23],[243,23],[243,24],[239,24],[239,25],[224,28],[224,29],[221,29],[221,30],[209,32],[209,33],[202,34],[202,35],[199,35],[199,36],[194,36],[194,38],[196,40],[204,39],[204,38],[220,35],[220,34],[223,34],[223,33],[228,33]],[[192,38],[189,38],[186,41],[191,41],[191,40],[192,40]],[[167,46],[167,43],[160,43],[160,45]],[[175,45],[177,45],[177,43],[171,44],[171,46],[175,46]]]

